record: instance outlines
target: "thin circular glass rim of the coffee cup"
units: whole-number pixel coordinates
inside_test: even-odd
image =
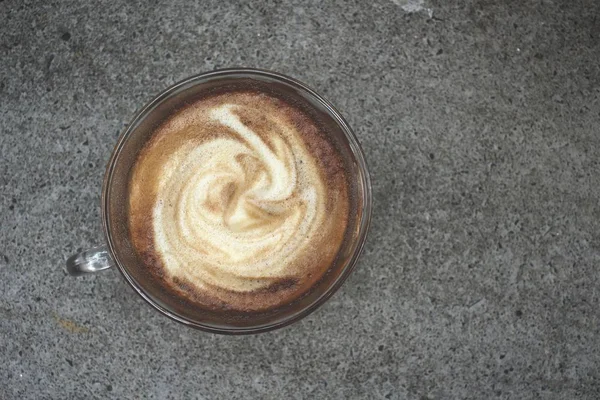
[[[245,75],[251,75],[251,76],[254,75],[254,76],[258,76],[258,77],[267,77],[267,78],[275,79],[284,84],[288,84],[296,89],[305,91],[310,96],[312,96],[314,98],[314,100],[317,100],[327,110],[327,113],[329,114],[329,116],[332,117],[335,120],[335,122],[339,125],[341,130],[344,132],[346,138],[348,139],[348,142],[350,144],[350,149],[352,151],[352,155],[354,156],[354,159],[355,159],[356,163],[358,164],[359,169],[361,171],[360,175],[361,175],[362,185],[365,189],[364,193],[363,193],[363,198],[362,198],[363,214],[361,216],[361,220],[359,223],[359,234],[358,234],[358,238],[357,238],[357,242],[356,242],[356,247],[354,249],[352,256],[350,257],[350,259],[348,260],[346,265],[343,267],[343,269],[339,273],[339,275],[336,277],[336,279],[333,281],[333,283],[329,287],[327,287],[325,289],[325,291],[323,293],[321,293],[321,295],[318,296],[312,303],[310,303],[308,306],[302,308],[300,311],[291,314],[287,318],[284,318],[284,319],[281,319],[278,321],[274,321],[272,323],[263,324],[263,325],[259,325],[259,326],[253,326],[253,327],[213,326],[210,324],[205,324],[205,323],[201,323],[198,321],[190,320],[190,319],[183,317],[181,315],[178,315],[174,311],[169,310],[169,309],[163,307],[162,305],[158,304],[152,297],[150,297],[148,294],[146,294],[144,288],[141,285],[139,285],[131,277],[131,275],[127,272],[126,267],[121,264],[118,257],[116,256],[116,252],[114,249],[114,245],[113,245],[112,237],[111,237],[111,233],[110,233],[110,218],[109,218],[109,214],[107,212],[108,206],[109,206],[110,184],[112,182],[114,167],[116,165],[118,156],[120,155],[121,150],[123,149],[125,143],[127,142],[127,139],[129,138],[130,134],[135,130],[135,128],[138,126],[138,124],[140,122],[142,122],[144,120],[144,118],[146,118],[147,115],[149,115],[149,113],[152,111],[152,109],[154,109],[154,107],[159,105],[164,100],[168,99],[171,94],[175,93],[178,89],[180,89],[183,86],[187,86],[187,85],[195,84],[195,83],[196,84],[201,83],[202,81],[204,81],[208,78],[220,78],[220,77],[227,77],[229,75],[236,75],[236,74],[245,74]],[[258,68],[225,68],[225,69],[218,69],[218,70],[213,70],[213,71],[209,71],[209,72],[199,73],[196,75],[192,75],[186,79],[183,79],[183,80],[169,86],[168,88],[164,89],[162,92],[160,92],[158,95],[156,95],[152,100],[150,100],[148,103],[146,103],[142,108],[140,108],[135,113],[131,122],[127,125],[125,130],[123,130],[123,132],[121,132],[121,134],[119,135],[117,144],[115,145],[115,147],[112,151],[112,154],[110,156],[110,159],[108,161],[108,164],[106,166],[106,171],[104,174],[104,181],[103,181],[103,185],[102,185],[101,217],[102,217],[102,227],[103,227],[103,231],[104,231],[104,237],[105,237],[105,240],[107,243],[109,253],[110,253],[112,259],[114,260],[114,264],[116,265],[116,267],[119,270],[119,272],[121,273],[121,275],[123,275],[123,277],[125,278],[127,283],[134,289],[134,291],[140,297],[142,297],[142,299],[144,299],[148,304],[150,304],[154,309],[159,311],[161,314],[167,316],[168,318],[170,318],[174,321],[182,323],[186,326],[189,326],[189,327],[192,327],[195,329],[199,329],[199,330],[202,330],[205,332],[210,332],[210,333],[219,333],[219,334],[227,334],[227,335],[242,335],[242,334],[267,332],[267,331],[271,331],[271,330],[275,330],[278,328],[288,326],[296,321],[299,321],[300,319],[302,319],[302,318],[306,317],[307,315],[311,314],[312,312],[314,312],[317,308],[319,308],[321,305],[323,305],[335,292],[337,292],[339,290],[339,288],[342,286],[344,281],[348,278],[348,276],[354,270],[356,263],[364,249],[366,238],[367,238],[367,233],[369,231],[369,227],[371,224],[372,201],[373,201],[372,197],[373,196],[372,196],[372,187],[371,187],[371,177],[369,175],[369,170],[368,170],[368,166],[367,166],[367,163],[365,160],[363,150],[358,142],[358,139],[356,138],[356,136],[354,134],[354,131],[352,130],[352,128],[350,128],[350,125],[346,122],[346,120],[341,115],[341,113],[333,106],[333,104],[330,101],[325,99],[322,95],[318,94],[314,89],[310,88],[306,84],[304,84],[294,78],[286,76],[284,74],[278,73],[278,72],[273,72],[273,71],[258,69]]]

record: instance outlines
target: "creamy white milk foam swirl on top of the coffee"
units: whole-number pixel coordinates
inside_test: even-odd
[[[156,250],[199,288],[255,291],[297,275],[290,267],[325,219],[325,187],[295,127],[271,115],[255,132],[240,107],[208,110],[216,135],[182,145],[158,183]]]

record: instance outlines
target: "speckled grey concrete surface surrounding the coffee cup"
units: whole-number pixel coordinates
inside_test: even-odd
[[[0,398],[600,398],[600,2],[241,3],[0,0]],[[343,289],[250,337],[64,271],[136,108],[227,66],[332,99],[375,196]]]

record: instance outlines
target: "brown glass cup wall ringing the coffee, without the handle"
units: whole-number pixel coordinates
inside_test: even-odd
[[[231,89],[259,89],[284,98],[331,134],[346,164],[350,198],[348,227],[340,250],[323,277],[300,298],[263,312],[214,311],[176,295],[134,249],[128,229],[128,184],[139,151],[154,129],[178,109]],[[303,84],[267,71],[236,69],[198,75],[167,89],[146,105],[121,135],[108,164],[102,191],[102,220],[109,251],[129,284],[156,309],[184,324],[215,333],[257,333],[312,312],[342,284],[363,247],[371,214],[371,185],[362,151],[340,114]]]

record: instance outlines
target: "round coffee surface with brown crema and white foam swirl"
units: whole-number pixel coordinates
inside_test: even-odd
[[[202,307],[243,312],[306,293],[348,224],[341,155],[304,111],[260,90],[186,105],[129,181],[129,232],[148,269]]]

